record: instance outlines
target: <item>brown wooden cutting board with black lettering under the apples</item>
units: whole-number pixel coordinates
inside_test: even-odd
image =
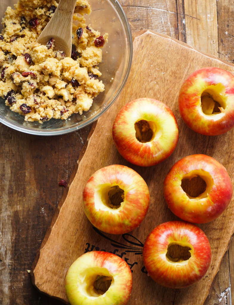
[[[64,279],[70,265],[87,251],[106,250],[122,257],[131,268],[133,288],[129,305],[202,305],[211,291],[234,232],[233,200],[218,219],[199,225],[211,243],[212,261],[205,277],[195,285],[176,290],[153,282],[143,265],[142,247],[146,236],[158,224],[178,219],[167,208],[162,189],[164,178],[176,161],[196,153],[212,156],[226,167],[233,183],[234,129],[215,137],[193,132],[180,117],[178,93],[182,82],[194,70],[215,66],[234,74],[234,66],[151,31],[143,30],[134,38],[128,81],[116,102],[93,124],[31,267],[32,282],[41,292],[67,303]],[[164,102],[175,114],[179,128],[178,145],[173,154],[164,162],[149,168],[133,166],[125,161],[119,155],[111,136],[113,120],[118,111],[127,102],[140,97]],[[150,191],[150,207],[146,218],[139,228],[124,235],[110,235],[93,228],[82,206],[82,191],[86,181],[96,170],[110,164],[123,164],[136,170],[145,179]]]

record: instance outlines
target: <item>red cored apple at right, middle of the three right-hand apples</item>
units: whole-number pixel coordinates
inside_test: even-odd
[[[204,189],[194,196],[185,192],[182,184],[197,177],[204,183]],[[163,190],[170,210],[179,218],[193,223],[214,220],[232,199],[232,181],[225,167],[203,154],[186,156],[176,162],[164,180]]]

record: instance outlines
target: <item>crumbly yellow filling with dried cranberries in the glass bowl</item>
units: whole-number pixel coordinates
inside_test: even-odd
[[[37,38],[54,14],[59,0],[20,0],[8,7],[0,34],[0,96],[26,121],[67,119],[87,111],[93,98],[104,90],[98,77],[102,47],[107,33],[100,35],[86,25],[84,14],[91,8],[77,0],[73,24],[71,57],[54,50],[54,39],[47,45]]]

